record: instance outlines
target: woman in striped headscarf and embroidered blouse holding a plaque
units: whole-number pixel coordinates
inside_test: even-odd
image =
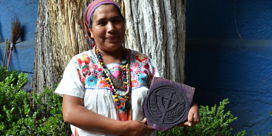
[[[145,125],[143,104],[153,77],[161,75],[149,57],[122,46],[120,8],[111,0],[96,0],[87,7],[84,24],[93,48],[72,58],[55,91],[63,96],[63,119],[72,135],[156,135]],[[188,121],[179,126],[198,123],[192,103]]]

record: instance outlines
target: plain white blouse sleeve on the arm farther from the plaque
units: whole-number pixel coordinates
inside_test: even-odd
[[[75,57],[66,66],[55,93],[59,96],[70,95],[84,98],[84,84],[80,81],[78,67]]]

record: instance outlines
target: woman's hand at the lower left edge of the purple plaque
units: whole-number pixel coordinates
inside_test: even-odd
[[[152,132],[154,129],[145,125],[146,118],[142,121],[126,121],[127,123],[127,132],[124,136],[144,136],[147,132]]]

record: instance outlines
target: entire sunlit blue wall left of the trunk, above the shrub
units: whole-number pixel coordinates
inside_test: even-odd
[[[0,64],[3,65],[5,41],[11,37],[11,20],[17,15],[21,22],[22,34],[15,44],[15,49],[11,52],[9,70],[15,68],[28,73],[29,82],[25,86],[26,91],[31,89],[33,75],[37,5],[38,0],[0,1]]]

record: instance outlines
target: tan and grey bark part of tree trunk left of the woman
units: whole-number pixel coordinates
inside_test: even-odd
[[[69,60],[87,50],[83,9],[88,4],[86,0],[39,0],[32,92],[55,88]]]

